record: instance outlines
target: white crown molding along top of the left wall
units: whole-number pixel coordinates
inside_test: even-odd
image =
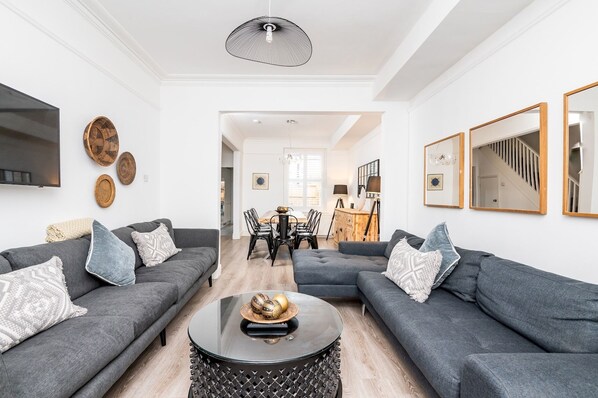
[[[108,40],[117,46],[134,63],[150,74],[156,82],[166,72],[143,49],[143,47],[118,23],[118,21],[97,0],[64,0]]]

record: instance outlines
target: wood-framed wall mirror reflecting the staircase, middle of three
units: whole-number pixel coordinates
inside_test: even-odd
[[[469,131],[469,207],[546,214],[545,102]]]

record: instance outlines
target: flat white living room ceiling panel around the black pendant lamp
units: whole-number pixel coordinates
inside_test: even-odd
[[[165,75],[375,75],[431,0],[272,0],[272,15],[311,38],[312,59],[281,68],[230,56],[242,23],[268,14],[268,0],[79,0],[136,42]]]

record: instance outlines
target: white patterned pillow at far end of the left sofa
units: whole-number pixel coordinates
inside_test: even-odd
[[[131,233],[131,237],[137,245],[139,257],[147,267],[162,264],[181,251],[174,245],[168,228],[163,223],[160,223],[160,226],[152,232],[134,231]]]

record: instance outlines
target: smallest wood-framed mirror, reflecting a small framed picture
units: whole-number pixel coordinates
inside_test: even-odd
[[[424,147],[424,206],[463,208],[464,136],[457,133]]]

